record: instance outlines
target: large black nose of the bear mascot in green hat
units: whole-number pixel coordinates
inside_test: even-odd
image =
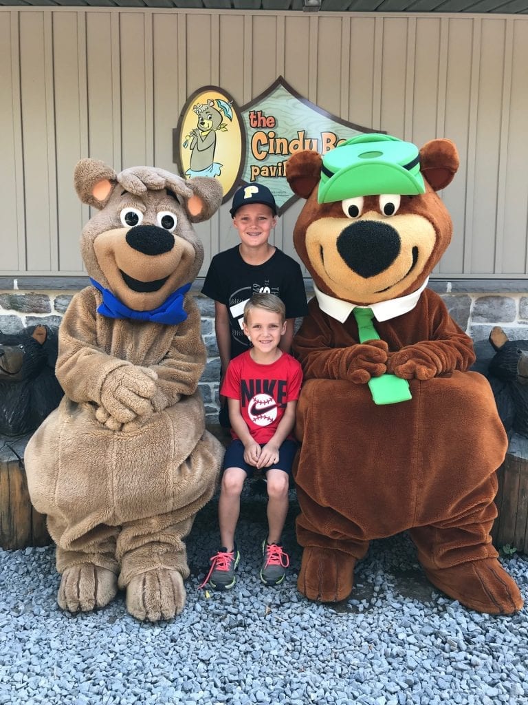
[[[337,238],[337,251],[346,264],[364,278],[385,271],[400,254],[400,236],[378,221],[358,221]]]

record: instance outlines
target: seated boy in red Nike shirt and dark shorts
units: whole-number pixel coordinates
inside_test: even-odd
[[[213,556],[203,585],[230,589],[240,553],[234,532],[240,494],[256,468],[266,474],[268,536],[263,541],[260,580],[277,585],[284,580],[289,557],[281,534],[288,511],[288,489],[296,441],[291,436],[301,391],[301,365],[279,349],[286,330],[283,302],[274,294],[253,294],[244,307],[244,333],[252,347],[227,367],[220,393],[227,397],[232,442],[224,458],[218,502],[222,548]]]

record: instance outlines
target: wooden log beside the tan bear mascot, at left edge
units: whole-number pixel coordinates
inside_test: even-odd
[[[32,507],[24,470],[30,434],[0,436],[0,548],[14,550],[51,544],[46,517]]]

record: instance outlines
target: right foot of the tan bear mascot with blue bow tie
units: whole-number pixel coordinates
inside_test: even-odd
[[[142,621],[168,620],[182,612],[186,597],[180,572],[156,568],[135,575],[127,585],[127,610]]]

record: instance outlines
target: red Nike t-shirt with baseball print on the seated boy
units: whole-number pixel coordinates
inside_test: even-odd
[[[246,350],[231,360],[220,394],[240,401],[251,436],[263,444],[275,435],[287,403],[298,399],[302,381],[301,365],[288,353],[272,364],[258,364]],[[233,430],[231,435],[238,438]]]

